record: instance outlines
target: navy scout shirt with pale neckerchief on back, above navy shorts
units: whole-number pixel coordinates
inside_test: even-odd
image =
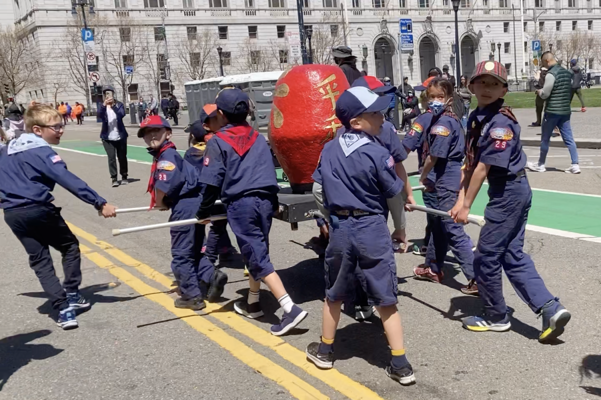
[[[383,214],[386,199],[403,190],[394,164],[388,150],[371,137],[349,131],[323,146],[313,179],[323,187],[327,209]]]

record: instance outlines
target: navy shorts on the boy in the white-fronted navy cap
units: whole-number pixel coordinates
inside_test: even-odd
[[[396,304],[397,265],[385,216],[340,217],[338,228],[330,224],[325,269],[330,301],[352,300],[359,274],[369,305]]]

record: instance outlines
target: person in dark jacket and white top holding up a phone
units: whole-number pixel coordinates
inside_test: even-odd
[[[111,173],[112,187],[119,186],[117,181],[117,160],[119,160],[119,172],[121,173],[121,185],[127,185],[127,131],[123,125],[125,107],[121,101],[115,99],[115,89],[105,86],[102,89],[105,101],[98,107],[98,116],[102,119],[100,139],[105,147],[109,161],[109,173]]]

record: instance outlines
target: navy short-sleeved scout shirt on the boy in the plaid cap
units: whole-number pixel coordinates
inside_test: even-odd
[[[468,140],[473,137],[474,130],[471,127],[480,125],[479,122],[485,122],[477,142],[478,151],[475,154],[473,167],[475,168],[478,162],[488,164],[489,181],[516,175],[524,169],[527,161],[520,142],[520,125],[499,113],[498,109],[499,107],[490,106],[476,109],[471,113],[468,121]],[[495,114],[490,118],[492,113]]]

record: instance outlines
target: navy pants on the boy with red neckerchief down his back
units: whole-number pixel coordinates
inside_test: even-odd
[[[227,220],[255,281],[275,272],[269,258],[269,231],[277,204],[275,196],[246,196],[227,206]]]

